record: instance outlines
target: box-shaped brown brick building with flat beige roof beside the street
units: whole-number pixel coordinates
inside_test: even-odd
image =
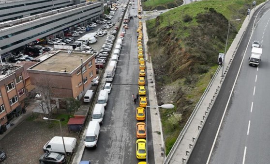
[[[95,57],[83,52],[57,51],[27,69],[33,85],[52,88],[53,97],[80,99],[96,77]]]

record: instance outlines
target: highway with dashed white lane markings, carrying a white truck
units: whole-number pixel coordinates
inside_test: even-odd
[[[258,15],[258,19],[268,11],[269,5],[265,7]],[[255,12],[254,16],[256,16]],[[267,86],[270,81],[267,76],[268,56],[262,55],[262,62],[257,68],[248,65],[248,58],[251,52],[251,43],[248,45],[251,36],[252,25],[249,24],[232,65],[228,71],[226,79],[221,87],[220,93],[212,107],[210,115],[205,123],[203,130],[198,138],[195,148],[189,158],[189,164],[205,164],[210,154],[221,117],[224,113],[226,103],[232,91],[232,86],[235,81],[237,72],[240,67],[240,62],[244,56],[244,51],[248,46],[246,55],[244,57],[243,65],[240,70],[238,81],[233,90],[232,98],[225,114],[221,130],[219,132],[217,142],[215,143],[210,163],[213,164],[239,164],[243,162],[245,147],[245,162],[248,164],[266,164],[269,163],[269,156],[265,155],[269,152],[269,144],[266,142],[266,137],[270,135],[267,130],[269,120],[266,118],[270,113],[267,110],[267,94],[270,88]],[[255,29],[255,33],[251,39],[262,40],[264,28],[268,24],[269,14],[267,13],[260,21]],[[266,37],[269,26],[266,27],[263,40],[263,54],[267,54],[270,50],[267,48],[269,39]],[[265,46],[264,46],[265,45]],[[256,79],[257,75],[257,79]],[[256,82],[255,82],[256,79]],[[254,86],[255,95],[254,94]],[[253,110],[251,112],[251,104],[254,102]],[[251,121],[249,128],[249,135],[247,129],[249,121]]]

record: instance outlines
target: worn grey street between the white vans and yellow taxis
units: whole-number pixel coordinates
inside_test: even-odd
[[[136,3],[135,3],[136,4]],[[131,16],[137,15],[135,9],[129,8]],[[114,18],[120,15],[117,10]],[[132,101],[132,94],[138,93],[139,63],[137,58],[137,27],[138,18],[131,19],[128,24],[123,45],[117,64],[116,74],[112,82],[107,109],[101,135],[96,149],[85,149],[82,160],[90,160],[93,164],[137,164],[136,159],[136,113],[138,103]],[[100,41],[100,40],[99,40]],[[100,41],[101,42],[101,41]],[[95,49],[98,49],[95,47]],[[150,113],[148,132],[151,133]],[[148,137],[149,163],[154,164],[153,144],[151,135]]]

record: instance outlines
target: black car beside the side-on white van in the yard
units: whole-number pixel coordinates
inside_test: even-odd
[[[39,162],[41,164],[64,164],[66,157],[59,153],[48,152],[40,156]]]

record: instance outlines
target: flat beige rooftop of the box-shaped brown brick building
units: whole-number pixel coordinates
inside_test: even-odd
[[[87,61],[92,54],[84,54],[80,52],[59,51],[37,65],[31,67],[32,70],[51,71],[51,72],[64,72],[71,73],[83,63]]]

